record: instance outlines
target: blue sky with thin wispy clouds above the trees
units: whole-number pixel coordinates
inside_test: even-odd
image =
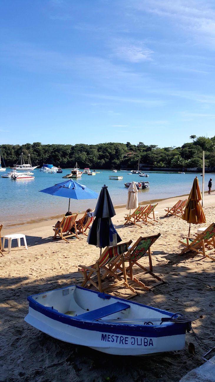
[[[8,0],[0,19],[0,144],[215,135],[214,2]]]

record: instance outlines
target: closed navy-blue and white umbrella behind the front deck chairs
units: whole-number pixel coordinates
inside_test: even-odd
[[[115,246],[119,241],[122,241],[111,220],[111,217],[114,215],[116,215],[116,212],[108,192],[108,187],[104,185],[94,211],[95,219],[88,233],[88,244],[104,248],[106,246]]]

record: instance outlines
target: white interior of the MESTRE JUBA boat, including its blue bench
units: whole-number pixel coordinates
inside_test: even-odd
[[[160,325],[161,317],[169,318],[171,313],[113,298],[104,293],[77,288],[73,285],[64,289],[31,296],[37,303],[70,317],[82,320],[101,320],[114,323]],[[139,318],[138,318],[139,317]],[[169,324],[168,322],[165,323]]]

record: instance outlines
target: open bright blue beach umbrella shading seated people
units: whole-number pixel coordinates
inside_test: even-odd
[[[45,194],[55,195],[55,196],[63,196],[69,198],[69,206],[70,199],[97,199],[98,194],[92,191],[90,188],[86,186],[80,185],[74,180],[70,179],[62,183],[58,183],[49,188],[45,188],[39,192],[44,192]],[[68,207],[69,209],[69,207]]]

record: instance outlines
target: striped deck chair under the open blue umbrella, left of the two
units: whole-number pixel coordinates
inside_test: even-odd
[[[64,216],[64,219],[60,223],[59,227],[54,227],[53,231],[55,231],[53,239],[57,238],[57,235],[59,235],[62,240],[65,240],[68,243],[67,238],[71,238],[75,236],[78,240],[78,234],[77,234],[77,228],[75,224],[75,220],[77,219],[78,214],[72,214],[68,216]],[[73,233],[71,230],[72,228],[75,228],[75,233]],[[65,235],[64,235],[65,234]]]

